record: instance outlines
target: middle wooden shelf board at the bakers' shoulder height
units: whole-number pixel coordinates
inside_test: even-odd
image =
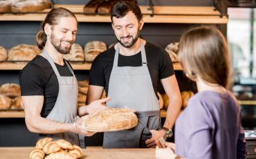
[[[0,62],[0,70],[21,70],[26,64],[14,64],[10,62]],[[85,64],[71,64],[74,70],[90,70],[91,63]],[[181,71],[182,67],[179,63],[174,63],[174,70]]]

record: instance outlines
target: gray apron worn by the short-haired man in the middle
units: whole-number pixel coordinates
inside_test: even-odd
[[[140,41],[142,66],[118,67],[119,45],[109,79],[111,100],[109,107],[128,107],[136,110],[138,125],[133,129],[104,133],[103,148],[146,147],[145,140],[152,138],[151,129],[161,128],[159,103],[147,68],[143,42]]]

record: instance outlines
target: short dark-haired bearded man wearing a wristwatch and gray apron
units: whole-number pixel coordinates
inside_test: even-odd
[[[112,28],[118,44],[93,61],[86,104],[100,99],[103,90],[109,107],[129,107],[136,111],[134,129],[104,133],[104,148],[155,147],[155,140],[170,136],[181,109],[181,94],[168,53],[139,37],[143,16],[134,3],[119,2],[111,10]],[[170,97],[165,124],[157,97],[158,82]]]

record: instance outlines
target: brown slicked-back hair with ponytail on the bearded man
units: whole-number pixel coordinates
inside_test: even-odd
[[[44,26],[46,24],[50,24],[51,26],[57,25],[58,19],[60,19],[60,17],[74,17],[76,19],[73,12],[66,8],[53,8],[50,12],[48,12],[48,14],[46,15],[46,19],[42,23],[41,30],[37,32],[37,35],[35,37],[39,49],[43,50],[47,40],[47,35],[44,32]]]

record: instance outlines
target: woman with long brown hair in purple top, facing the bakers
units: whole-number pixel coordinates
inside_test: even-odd
[[[241,112],[228,91],[230,59],[225,37],[215,27],[198,26],[185,32],[179,44],[179,62],[196,82],[175,127],[175,148],[156,149],[156,158],[245,158]]]

